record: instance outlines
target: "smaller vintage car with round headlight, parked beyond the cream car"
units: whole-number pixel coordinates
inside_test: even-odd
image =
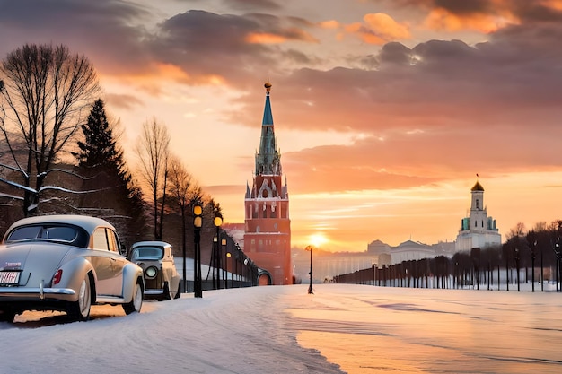
[[[131,246],[127,258],[143,268],[145,299],[180,298],[180,274],[173,261],[170,243],[139,241]]]

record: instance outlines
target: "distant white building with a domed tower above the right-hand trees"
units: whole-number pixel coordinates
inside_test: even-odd
[[[496,228],[496,220],[487,216],[484,187],[478,180],[470,189],[470,194],[472,195],[470,216],[461,220],[461,230],[457,235],[455,250],[461,252],[470,251],[472,248],[500,246],[502,236]]]

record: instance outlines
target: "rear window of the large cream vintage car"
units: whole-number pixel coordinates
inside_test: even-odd
[[[73,225],[36,224],[15,228],[6,238],[6,243],[29,240],[57,241],[86,248],[89,237],[83,229]]]

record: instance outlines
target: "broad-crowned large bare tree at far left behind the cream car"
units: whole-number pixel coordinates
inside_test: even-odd
[[[83,124],[100,90],[88,59],[65,46],[25,45],[0,64],[0,133],[17,180],[0,181],[22,191],[23,214],[36,213],[45,178]],[[74,144],[74,143],[73,143]],[[63,189],[64,188],[60,188]]]

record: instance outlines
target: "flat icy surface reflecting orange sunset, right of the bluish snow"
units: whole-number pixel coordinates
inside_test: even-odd
[[[290,309],[298,341],[348,373],[562,372],[560,293],[314,290]]]

